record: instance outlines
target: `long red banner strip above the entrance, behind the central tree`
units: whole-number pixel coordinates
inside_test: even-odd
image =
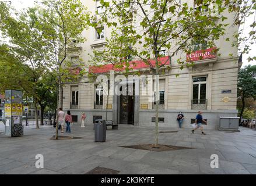
[[[156,66],[156,61],[153,59],[150,59],[149,62],[155,67]],[[169,56],[164,56],[162,58],[159,58],[159,65],[170,65],[170,60]],[[118,64],[119,66],[120,64]],[[113,64],[107,64],[107,65],[102,65],[102,66],[90,66],[89,67],[89,72],[94,73],[94,74],[100,74],[100,73],[106,73],[110,70],[114,71],[124,71],[125,70],[125,63],[122,68],[117,68],[114,67]],[[135,69],[146,69],[149,68],[150,65],[146,64],[142,60],[134,60],[129,62],[129,68],[135,70]]]

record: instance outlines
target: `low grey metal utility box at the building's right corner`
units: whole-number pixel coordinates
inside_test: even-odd
[[[239,117],[220,117],[219,130],[239,132]]]

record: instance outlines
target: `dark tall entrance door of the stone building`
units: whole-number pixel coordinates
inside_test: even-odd
[[[134,91],[133,94],[128,94],[127,85],[127,95],[120,95],[120,124],[134,124]],[[133,88],[134,90],[134,88]]]

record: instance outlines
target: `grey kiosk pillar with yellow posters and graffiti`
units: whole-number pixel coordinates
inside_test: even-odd
[[[23,135],[22,91],[5,91],[5,135],[17,137]]]

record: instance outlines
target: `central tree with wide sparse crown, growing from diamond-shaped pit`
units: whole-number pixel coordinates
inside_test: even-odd
[[[194,51],[194,45],[215,47],[215,41],[225,34],[223,11],[229,7],[227,1],[204,0],[196,1],[195,6],[187,2],[172,0],[113,0],[112,3],[100,0],[106,11],[92,17],[95,28],[106,24],[119,31],[115,40],[129,42],[126,47],[132,56],[136,56],[146,65],[156,80],[156,127],[155,144],[158,144],[158,114],[159,114],[159,75],[169,64],[170,58]],[[99,18],[100,17],[100,18]],[[227,38],[228,40],[228,38]],[[115,48],[114,45],[111,47]],[[169,59],[160,62],[160,51],[166,49]],[[117,49],[117,48],[115,48]],[[216,49],[213,52],[216,52]],[[118,51],[118,50],[116,50]],[[122,66],[129,71],[128,59],[122,58]],[[152,60],[153,59],[153,60]],[[177,60],[182,70],[185,60]],[[191,65],[189,63],[188,65]]]

